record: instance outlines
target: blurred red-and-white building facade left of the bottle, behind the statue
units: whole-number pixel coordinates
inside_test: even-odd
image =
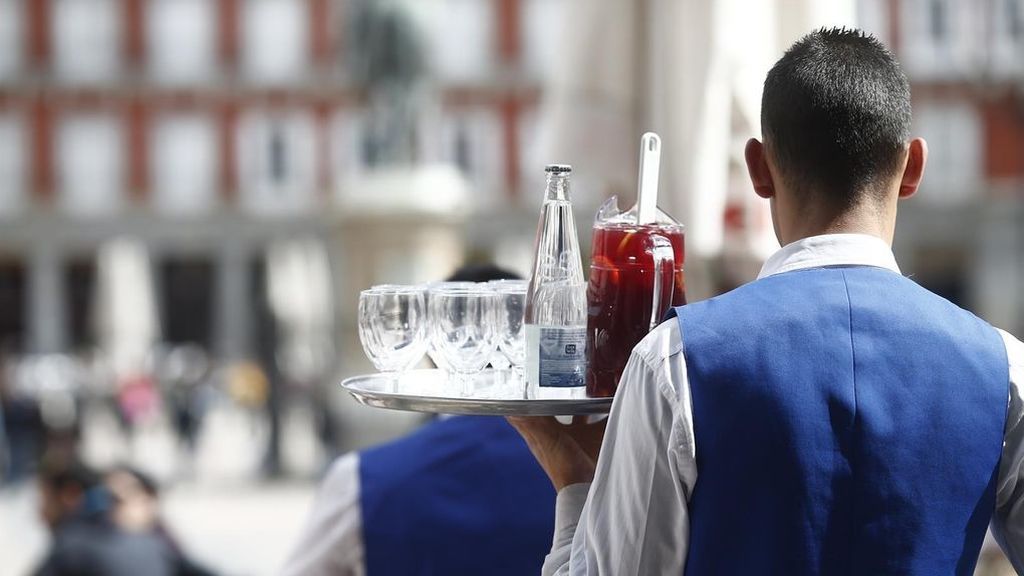
[[[521,259],[564,3],[378,3],[425,48],[421,170],[374,154],[351,26],[373,2],[0,0],[0,340],[93,345],[97,254],[122,237],[151,255],[162,338],[226,358],[253,354],[278,240],[322,243],[339,300]],[[514,223],[466,216],[499,211]]]

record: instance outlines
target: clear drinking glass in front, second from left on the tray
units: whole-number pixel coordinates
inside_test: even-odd
[[[471,392],[471,376],[498,346],[497,294],[485,287],[438,288],[430,293],[430,339],[449,370]]]

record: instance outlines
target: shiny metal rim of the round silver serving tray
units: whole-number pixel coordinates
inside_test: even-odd
[[[436,369],[415,372],[441,372]],[[368,390],[353,385],[367,379],[389,377],[381,373],[357,374],[341,380],[341,387],[364,406],[427,412],[434,414],[464,414],[477,416],[583,416],[607,414],[613,398],[559,398],[559,399],[498,399],[457,398]]]

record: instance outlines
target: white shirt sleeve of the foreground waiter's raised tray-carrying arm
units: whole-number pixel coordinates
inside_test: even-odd
[[[659,354],[673,340],[675,323],[658,327],[630,358],[593,484],[558,494],[544,576],[682,573],[695,468],[682,354]]]

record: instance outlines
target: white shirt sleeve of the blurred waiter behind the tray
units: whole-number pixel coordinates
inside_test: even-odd
[[[364,576],[359,456],[346,454],[331,466],[313,501],[302,536],[283,576]]]

